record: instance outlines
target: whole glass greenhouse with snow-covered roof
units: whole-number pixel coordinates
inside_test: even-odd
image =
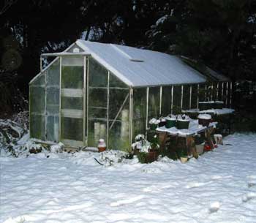
[[[108,148],[129,151],[151,118],[197,108],[207,97],[200,89],[230,106],[232,84],[208,73],[177,56],[79,39],[41,56],[41,72],[29,86],[30,137],[80,148],[103,138]]]

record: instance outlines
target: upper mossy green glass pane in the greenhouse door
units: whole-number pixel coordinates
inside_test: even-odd
[[[62,67],[61,88],[83,88],[83,67]]]

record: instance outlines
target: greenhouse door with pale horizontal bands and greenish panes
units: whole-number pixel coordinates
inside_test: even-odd
[[[86,70],[83,56],[61,58],[61,131],[65,145],[85,146],[86,142]]]

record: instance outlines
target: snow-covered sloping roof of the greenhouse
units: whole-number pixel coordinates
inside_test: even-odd
[[[177,56],[81,39],[76,44],[85,53],[91,53],[92,57],[128,86],[162,86],[206,81],[203,75]]]

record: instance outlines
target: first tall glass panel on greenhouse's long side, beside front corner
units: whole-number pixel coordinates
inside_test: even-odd
[[[132,122],[132,140],[138,134],[146,134],[146,88],[135,88],[133,91]]]

